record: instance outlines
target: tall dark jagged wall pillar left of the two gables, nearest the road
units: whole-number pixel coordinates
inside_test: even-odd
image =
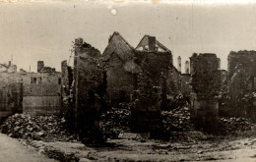
[[[99,131],[98,122],[105,93],[100,57],[100,52],[90,44],[75,44],[74,120],[81,137],[96,138],[99,135],[96,133]]]

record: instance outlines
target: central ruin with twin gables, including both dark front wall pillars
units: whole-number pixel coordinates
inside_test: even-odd
[[[132,103],[134,131],[149,131],[159,122],[160,109],[169,106],[170,98],[183,92],[181,86],[187,87],[190,80],[173,66],[171,51],[155,36],[145,35],[134,48],[114,32],[102,55],[82,38],[74,47],[73,73],[62,62],[62,91],[68,96],[73,89],[75,125],[81,131],[96,128],[102,101],[111,106]]]

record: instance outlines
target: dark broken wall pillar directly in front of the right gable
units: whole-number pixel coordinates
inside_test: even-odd
[[[165,104],[166,95],[172,92],[167,86],[171,54],[137,52],[135,56],[141,72],[134,75],[132,126],[135,132],[147,132],[160,124],[161,104]]]

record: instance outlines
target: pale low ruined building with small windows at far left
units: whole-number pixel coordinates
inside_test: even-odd
[[[1,111],[36,114],[58,113],[61,106],[60,77],[60,73],[1,72]]]

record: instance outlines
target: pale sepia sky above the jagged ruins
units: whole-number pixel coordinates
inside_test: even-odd
[[[193,53],[216,53],[227,68],[230,51],[256,50],[256,2],[143,0],[0,0],[0,63],[36,72],[38,60],[60,71],[77,37],[101,53],[118,31],[136,47],[144,34],[156,36],[184,63]],[[70,62],[72,65],[72,60]]]

